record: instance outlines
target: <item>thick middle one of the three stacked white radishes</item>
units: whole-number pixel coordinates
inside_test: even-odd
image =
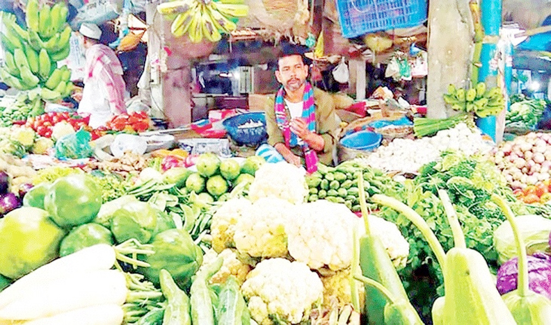
[[[127,292],[125,275],[115,269],[75,273],[27,290],[0,310],[0,319],[38,319],[84,307],[122,305]]]

